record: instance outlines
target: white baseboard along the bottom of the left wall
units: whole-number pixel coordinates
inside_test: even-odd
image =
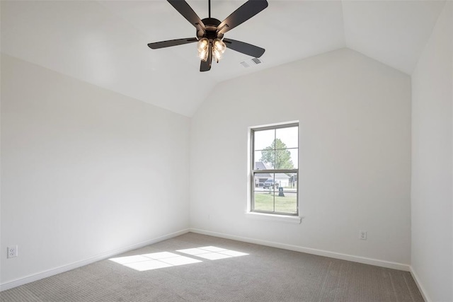
[[[188,232],[189,232],[189,229],[186,228],[186,229],[174,232],[174,233],[169,233],[169,234],[166,234],[164,236],[160,236],[158,238],[147,240],[147,241],[144,241],[144,242],[141,242],[141,243],[136,243],[134,245],[129,245],[129,246],[126,246],[124,248],[118,248],[116,250],[110,250],[108,252],[103,252],[100,255],[96,255],[94,257],[90,257],[90,258],[85,259],[85,260],[73,262],[73,263],[70,263],[69,265],[63,265],[62,267],[55,267],[53,269],[49,269],[49,270],[44,271],[44,272],[39,272],[38,274],[32,274],[32,275],[29,275],[27,277],[23,277],[23,278],[16,279],[16,280],[13,280],[13,281],[8,281],[8,282],[6,282],[4,284],[0,284],[0,291],[5,291],[6,289],[12,289],[13,287],[16,287],[16,286],[27,284],[27,283],[30,283],[30,282],[33,282],[33,281],[37,281],[37,280],[40,280],[40,279],[43,279],[43,278],[51,277],[51,276],[53,276],[55,274],[60,274],[62,272],[67,272],[67,271],[69,271],[71,269],[76,269],[77,267],[83,267],[84,265],[89,265],[89,264],[91,264],[93,262],[97,262],[97,261],[100,261],[100,260],[104,260],[104,259],[110,258],[112,256],[121,254],[122,252],[128,252],[130,250],[135,250],[137,248],[143,248],[144,246],[151,245],[153,243],[158,243],[160,241],[164,241],[164,240],[176,237],[176,236],[180,236],[180,235],[183,235],[183,234],[188,233]]]

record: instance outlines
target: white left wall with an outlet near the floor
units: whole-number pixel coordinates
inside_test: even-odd
[[[1,73],[1,284],[187,230],[188,117],[6,55]]]

